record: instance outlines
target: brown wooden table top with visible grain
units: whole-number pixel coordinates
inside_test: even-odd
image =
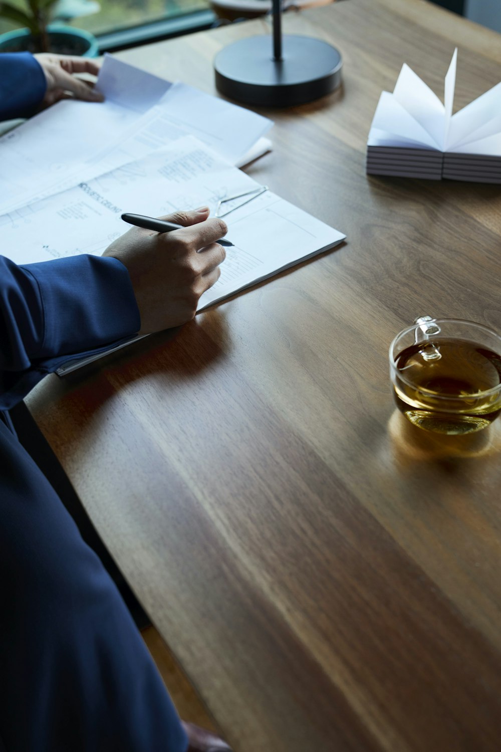
[[[287,14],[344,87],[267,112],[249,168],[348,235],[29,408],[131,587],[236,752],[501,748],[501,422],[463,444],[395,414],[388,344],[420,314],[501,330],[499,186],[367,177],[403,62],[456,107],[499,80],[501,38],[418,0]],[[122,58],[213,92],[263,20]]]

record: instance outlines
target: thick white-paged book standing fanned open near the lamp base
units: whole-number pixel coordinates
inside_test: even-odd
[[[393,93],[382,92],[367,142],[367,173],[501,183],[501,83],[452,114],[457,50],[444,104],[403,65]]]

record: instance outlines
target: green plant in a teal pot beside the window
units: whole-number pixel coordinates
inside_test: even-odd
[[[50,23],[59,17],[62,0],[23,0],[25,8],[0,0],[0,17],[14,21],[22,28],[0,35],[0,52],[53,52],[60,55],[96,57],[96,38],[83,29]],[[89,2],[95,12],[99,6]],[[79,15],[83,15],[80,13]],[[69,17],[66,16],[69,20]]]

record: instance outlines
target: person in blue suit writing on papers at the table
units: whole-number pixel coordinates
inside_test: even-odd
[[[100,95],[92,60],[0,54],[0,120]],[[0,151],[2,145],[0,144]],[[177,715],[101,560],[14,432],[9,409],[73,353],[195,315],[219,277],[222,220],[202,207],[134,227],[103,256],[16,265],[0,256],[0,750],[222,752]],[[3,746],[2,746],[3,745]]]

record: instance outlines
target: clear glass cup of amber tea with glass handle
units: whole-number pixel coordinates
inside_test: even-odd
[[[390,346],[397,408],[426,431],[480,431],[501,413],[501,337],[487,326],[422,316]]]

